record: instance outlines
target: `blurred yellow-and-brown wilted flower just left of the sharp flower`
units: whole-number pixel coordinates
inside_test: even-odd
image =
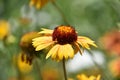
[[[24,55],[26,56],[26,63],[32,64],[33,58],[38,54],[37,51],[35,51],[35,48],[32,46],[32,39],[40,37],[38,32],[28,32],[24,34],[20,40],[20,47],[22,51],[24,52],[22,54],[22,60],[24,61]]]

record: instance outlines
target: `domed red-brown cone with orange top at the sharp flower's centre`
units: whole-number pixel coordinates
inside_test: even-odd
[[[77,33],[71,26],[58,26],[54,29],[52,34],[53,41],[64,45],[72,43],[77,40]]]

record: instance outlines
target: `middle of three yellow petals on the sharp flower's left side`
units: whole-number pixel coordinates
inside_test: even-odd
[[[52,37],[44,36],[44,37],[34,38],[34,39],[32,39],[32,40],[33,40],[33,42],[32,42],[32,43],[33,43],[33,46],[34,46],[34,47],[37,47],[37,46],[40,45],[40,44],[52,42]]]

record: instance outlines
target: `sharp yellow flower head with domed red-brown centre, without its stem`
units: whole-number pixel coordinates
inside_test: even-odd
[[[54,30],[43,29],[39,34],[44,35],[33,39],[36,51],[53,45],[46,59],[50,56],[57,61],[73,58],[78,51],[82,54],[80,46],[86,49],[90,49],[90,45],[96,47],[91,39],[77,36],[77,32],[71,26],[58,26]]]

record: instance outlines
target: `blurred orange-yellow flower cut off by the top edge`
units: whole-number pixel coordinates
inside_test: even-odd
[[[31,0],[30,1],[30,6],[35,5],[37,9],[42,8],[46,3],[48,3],[48,1],[52,1],[52,0]]]

